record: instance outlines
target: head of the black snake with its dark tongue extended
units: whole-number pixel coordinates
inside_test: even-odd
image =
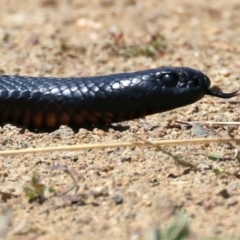
[[[155,89],[156,93],[152,95],[155,98],[152,98],[152,102],[158,99],[157,107],[161,111],[186,106],[200,100],[205,95],[231,98],[240,91],[238,89],[232,93],[222,93],[210,88],[211,81],[207,75],[187,67],[163,68],[155,76],[159,79],[159,87],[162,90],[159,96],[160,91],[158,88]]]

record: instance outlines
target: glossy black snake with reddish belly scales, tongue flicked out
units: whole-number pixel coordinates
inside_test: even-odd
[[[158,68],[81,78],[0,75],[0,124],[56,129],[109,124],[183,107],[211,89],[209,78],[190,68]]]

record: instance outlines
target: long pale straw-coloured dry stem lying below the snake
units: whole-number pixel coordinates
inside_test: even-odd
[[[160,145],[183,145],[183,144],[204,144],[211,142],[240,142],[240,137],[231,138],[195,138],[195,139],[179,139],[179,140],[161,140],[151,141],[151,144]],[[103,148],[118,148],[118,147],[136,147],[148,146],[149,143],[144,141],[138,142],[120,142],[120,143],[99,143],[99,144],[79,144],[74,146],[57,146],[57,147],[44,147],[44,148],[27,148],[21,150],[6,150],[0,152],[0,156],[19,155],[27,153],[44,153],[44,152],[61,152],[61,151],[80,151],[85,149],[103,149]]]

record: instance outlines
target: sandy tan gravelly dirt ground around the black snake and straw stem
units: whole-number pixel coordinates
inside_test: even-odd
[[[230,92],[240,85],[239,11],[238,0],[1,0],[0,72],[67,77],[188,66]],[[236,101],[204,97],[121,123],[122,130],[75,133],[62,126],[33,133],[5,125],[0,149],[126,142],[135,136],[239,136],[237,125],[189,128],[176,122],[239,119]],[[1,157],[0,238],[157,240],[163,239],[158,229],[166,231],[175,220],[174,231],[189,227],[186,239],[240,239],[236,148],[209,143],[164,149],[196,169],[153,147]],[[33,176],[39,180],[31,184]],[[72,177],[78,188],[67,192]],[[41,187],[45,201],[30,203],[29,195]]]

